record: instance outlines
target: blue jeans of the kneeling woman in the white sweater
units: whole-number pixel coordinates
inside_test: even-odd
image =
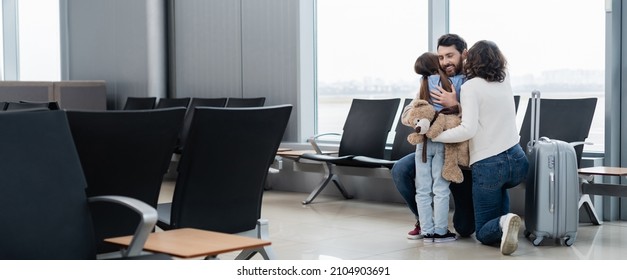
[[[509,194],[527,178],[529,162],[519,144],[473,163],[472,199],[475,205],[477,240],[485,245],[501,242],[501,216],[509,213]]]

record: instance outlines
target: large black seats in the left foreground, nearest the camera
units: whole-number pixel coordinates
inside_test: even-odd
[[[173,201],[165,205],[159,191],[184,108],[0,112],[0,198],[7,209],[0,223],[10,227],[0,259],[93,259],[119,252],[104,238],[139,233],[143,246],[155,224],[267,238],[263,186],[291,110],[197,108]],[[105,203],[111,196],[135,199],[154,214]],[[123,252],[132,256],[141,247]],[[238,257],[255,253],[272,258],[269,247]]]

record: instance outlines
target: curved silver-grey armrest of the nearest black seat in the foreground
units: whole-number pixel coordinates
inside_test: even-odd
[[[128,207],[140,215],[133,239],[128,248],[122,252],[123,257],[139,256],[144,249],[148,235],[157,223],[157,210],[145,202],[126,196],[102,195],[88,198],[89,202],[110,202]]]

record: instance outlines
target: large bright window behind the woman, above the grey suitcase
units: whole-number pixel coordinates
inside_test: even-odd
[[[605,1],[449,3],[450,32],[464,37],[469,47],[478,40],[494,41],[507,57],[514,93],[521,96],[519,126],[534,89],[542,98],[596,97],[588,138],[594,145],[584,149],[604,150]]]

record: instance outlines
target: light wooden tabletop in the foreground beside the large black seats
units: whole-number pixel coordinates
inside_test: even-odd
[[[105,239],[106,242],[128,246],[132,236]],[[222,253],[259,248],[270,241],[214,231],[181,228],[153,232],[148,236],[145,251],[165,253],[179,258],[216,256]]]

